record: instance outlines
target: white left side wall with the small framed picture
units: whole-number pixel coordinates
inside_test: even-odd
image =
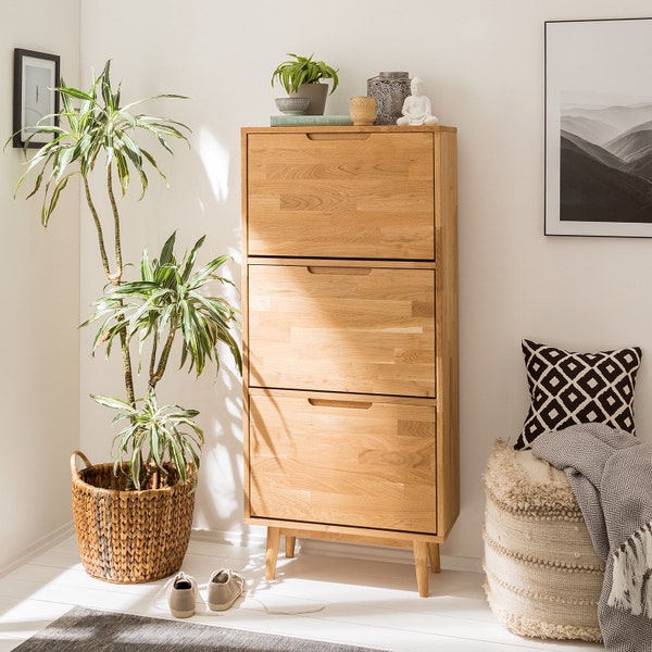
[[[0,137],[12,134],[13,50],[61,55],[66,82],[79,70],[79,0],[2,4]],[[57,28],[53,28],[57,21]],[[40,205],[13,199],[22,151],[0,152],[0,567],[71,519],[71,452],[78,446],[79,228],[73,192],[48,229]]]

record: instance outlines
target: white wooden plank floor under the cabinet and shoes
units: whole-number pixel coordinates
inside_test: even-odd
[[[196,614],[191,620],[397,652],[603,649],[511,635],[489,611],[478,573],[430,575],[430,597],[424,599],[415,591],[409,564],[304,551],[293,560],[281,555],[277,579],[267,582],[261,549],[191,541],[186,573],[201,585],[221,567],[244,575],[246,598],[227,612]],[[76,604],[172,617],[164,585],[165,580],[123,586],[91,579],[79,563],[74,538],[65,539],[0,578],[0,652],[13,650]]]

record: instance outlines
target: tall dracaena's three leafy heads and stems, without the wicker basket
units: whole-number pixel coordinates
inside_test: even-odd
[[[16,192],[28,177],[36,175],[27,197],[42,193],[41,223],[48,226],[68,180],[76,175],[82,179],[108,281],[85,325],[100,322],[93,350],[104,344],[109,355],[112,344],[118,342],[125,384],[124,399],[92,396],[100,404],[116,409],[114,422],[125,424],[115,438],[116,472],[125,461],[129,486],[155,488],[160,475],[167,474],[170,464],[181,479],[186,478],[191,464],[198,467],[203,443],[201,428],[193,421],[198,414],[196,410],[159,406],[156,401],[156,385],[167,368],[175,337],[181,336],[180,366],[187,364],[197,376],[206,362],[213,362],[220,368],[221,344],[226,344],[241,372],[240,350],[233,335],[238,325],[237,311],[225,299],[202,293],[211,281],[229,283],[216,274],[226,262],[225,256],[215,258],[196,269],[197,253],[204,238],[177,261],[173,234],[158,259],[150,260],[147,251],[142,254],[139,280],[128,281],[123,277],[126,265],[123,263],[117,199],[126,195],[133,178],[138,179],[142,199],[151,171],[165,179],[153,153],[138,140],[145,136],[149,142],[158,143],[172,154],[170,142],[172,139],[188,142],[189,128],[166,117],[138,112],[138,108],[150,100],[185,99],[183,96],[158,95],[122,105],[121,86],[113,87],[110,66],[108,61],[102,72],[93,76],[88,91],[61,80],[57,90],[62,109],[54,116],[58,124],[38,124],[33,128],[25,146],[36,135],[49,135],[51,140],[28,161],[16,184]],[[90,179],[96,174],[104,177],[110,206],[108,215],[100,214],[92,193]],[[131,346],[137,346],[140,361],[146,341],[149,342],[150,361],[148,373],[143,374],[147,378],[145,397],[139,398],[135,390]],[[140,371],[139,364],[137,371]]]

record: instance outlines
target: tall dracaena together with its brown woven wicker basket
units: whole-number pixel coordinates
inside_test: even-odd
[[[68,180],[78,175],[82,181],[106,279],[83,325],[98,325],[93,351],[104,348],[106,355],[120,351],[124,397],[91,394],[116,411],[113,422],[122,428],[114,436],[113,462],[92,465],[82,452],[73,453],[73,514],[86,570],[106,581],[138,582],[178,570],[192,524],[203,444],[196,422],[199,413],[160,405],[156,400],[173,346],[180,348],[180,367],[196,376],[209,363],[220,369],[222,347],[240,372],[242,361],[235,337],[237,310],[225,298],[208,292],[211,284],[230,283],[220,274],[228,259],[220,255],[200,266],[204,237],[179,256],[173,233],[158,255],[142,252],[136,278],[125,275],[118,197],[124,198],[134,178],[140,198],[145,197],[151,171],[165,178],[154,154],[139,145],[140,137],[172,154],[172,139],[188,143],[190,130],[183,123],[139,112],[149,100],[183,96],[166,93],[121,104],[121,86],[113,87],[110,64],[93,75],[88,91],[61,80],[57,90],[62,108],[54,116],[55,126],[39,123],[24,151],[36,135],[51,139],[28,161],[16,192],[36,175],[28,198],[42,195],[41,223],[48,226]],[[98,209],[90,183],[93,175],[104,178],[106,214]],[[147,365],[141,364],[143,359]],[[85,468],[77,469],[78,457]]]

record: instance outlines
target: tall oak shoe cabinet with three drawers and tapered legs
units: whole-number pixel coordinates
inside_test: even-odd
[[[242,128],[244,519],[411,547],[460,507],[456,131]]]

